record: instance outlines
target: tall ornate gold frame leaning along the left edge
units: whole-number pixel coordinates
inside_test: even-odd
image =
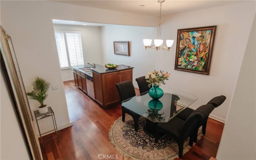
[[[3,74],[5,75],[13,103],[16,107],[16,113],[27,143],[28,151],[30,152],[30,158],[42,160],[39,142],[33,128],[31,109],[28,103],[16,54],[12,45],[12,39],[8,34],[6,34],[2,26],[0,32],[1,67],[4,70]]]

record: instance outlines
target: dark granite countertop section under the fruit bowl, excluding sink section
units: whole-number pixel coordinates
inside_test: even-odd
[[[126,69],[132,69],[132,68],[134,68],[134,67],[120,64],[120,65],[117,65],[117,68],[115,68],[115,69],[108,69],[105,66],[96,64],[96,68],[92,68],[92,70],[94,72],[103,74],[103,73],[116,72],[116,71],[121,71],[121,70],[126,70]]]

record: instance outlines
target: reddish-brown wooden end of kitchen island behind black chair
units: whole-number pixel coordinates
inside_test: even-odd
[[[93,72],[95,100],[103,108],[108,108],[120,102],[116,84],[132,81],[132,69],[99,74]]]

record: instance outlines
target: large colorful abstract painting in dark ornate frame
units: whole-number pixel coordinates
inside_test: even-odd
[[[209,75],[216,27],[178,29],[175,70]]]

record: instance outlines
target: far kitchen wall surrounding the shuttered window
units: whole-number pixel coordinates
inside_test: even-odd
[[[101,64],[101,35],[100,27],[53,24],[54,29],[59,30],[79,30],[82,33],[82,46],[84,53],[84,64]],[[63,81],[74,79],[71,69],[62,69]]]

